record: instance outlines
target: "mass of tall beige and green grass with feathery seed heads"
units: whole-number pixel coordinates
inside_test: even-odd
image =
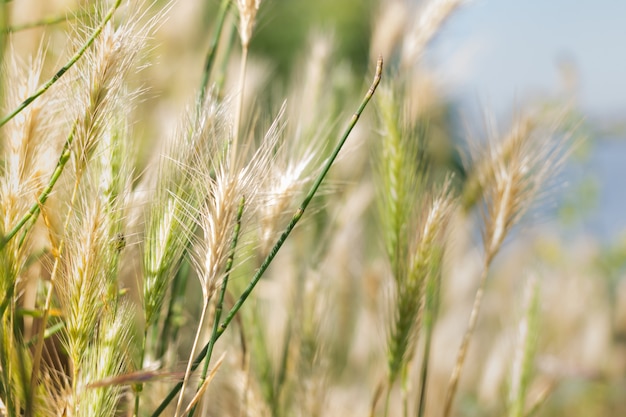
[[[455,398],[474,392],[461,377],[495,260],[569,132],[528,112],[451,168],[462,151],[420,59],[460,1],[380,2],[371,74],[319,37],[284,94],[254,58],[270,1],[212,4],[193,69],[163,35],[192,3],[84,2],[45,28],[2,3],[0,415],[469,415]],[[161,66],[197,69],[180,115]],[[459,243],[471,225],[477,248]],[[476,250],[459,315],[448,282]],[[511,416],[544,398],[528,282],[495,404]],[[442,358],[450,313],[468,325]]]

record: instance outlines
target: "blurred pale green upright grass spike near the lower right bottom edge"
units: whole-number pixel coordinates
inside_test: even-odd
[[[535,366],[537,335],[539,333],[539,281],[531,276],[524,291],[524,314],[518,324],[515,355],[511,367],[511,383],[508,395],[509,417],[523,417]]]

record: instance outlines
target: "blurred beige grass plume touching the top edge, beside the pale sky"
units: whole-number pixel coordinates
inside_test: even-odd
[[[402,45],[401,66],[410,68],[422,55],[426,45],[441,26],[465,0],[431,0],[420,11],[418,22],[411,26]]]

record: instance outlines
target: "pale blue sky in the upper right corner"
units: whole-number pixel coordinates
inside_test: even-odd
[[[427,56],[451,94],[496,112],[559,91],[564,60],[584,110],[626,117],[626,1],[471,0]]]

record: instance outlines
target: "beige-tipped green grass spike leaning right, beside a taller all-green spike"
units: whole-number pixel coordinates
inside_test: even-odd
[[[394,323],[389,335],[389,389],[411,361],[417,341],[425,286],[441,273],[444,239],[455,200],[447,180],[438,192],[425,197],[407,259],[406,271],[396,278]]]

